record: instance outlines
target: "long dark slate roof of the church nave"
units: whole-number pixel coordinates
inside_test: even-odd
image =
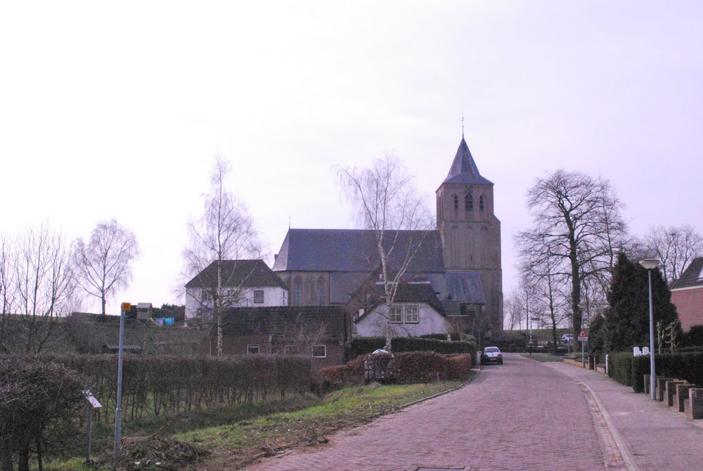
[[[393,245],[396,231],[387,231],[384,245]],[[444,262],[439,231],[397,231],[389,269],[398,270],[407,247],[420,243],[409,272],[442,272]],[[380,265],[374,231],[366,229],[288,229],[273,271],[337,271],[368,273]]]

